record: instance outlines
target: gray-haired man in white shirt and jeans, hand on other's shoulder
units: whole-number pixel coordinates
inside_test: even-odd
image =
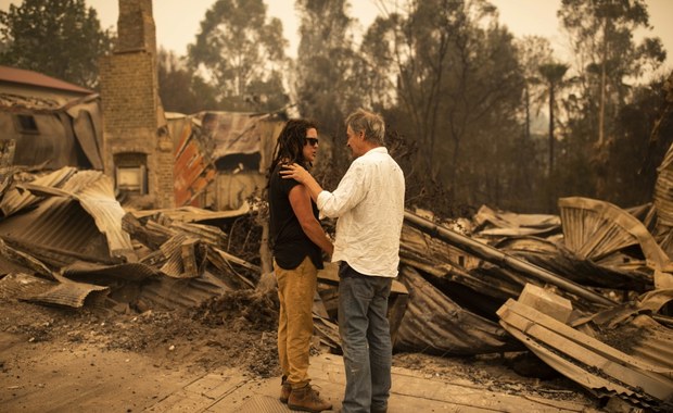
[[[304,184],[325,216],[338,217],[332,262],[339,267],[339,331],[346,370],[342,411],[388,410],[392,343],[388,298],[399,264],[405,182],[384,145],[383,118],[357,110],[346,118],[355,158],[333,192],[297,164],[285,178]]]

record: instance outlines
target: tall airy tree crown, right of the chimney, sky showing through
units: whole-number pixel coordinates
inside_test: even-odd
[[[282,23],[266,20],[262,0],[218,0],[188,46],[190,64],[219,91],[227,110],[277,110],[288,102]]]

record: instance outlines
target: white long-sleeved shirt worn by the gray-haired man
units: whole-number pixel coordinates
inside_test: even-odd
[[[365,275],[397,276],[404,220],[404,174],[379,147],[355,159],[333,192],[318,195],[325,216],[338,217],[332,262]]]

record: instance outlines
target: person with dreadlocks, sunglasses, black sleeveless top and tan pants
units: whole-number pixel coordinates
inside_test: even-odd
[[[282,165],[310,168],[318,152],[318,129],[307,120],[290,120],[278,136],[269,167],[268,201],[274,272],[278,281],[280,313],[278,355],[282,370],[280,401],[292,410],[321,412],[332,405],[310,386],[308,355],[313,335],[313,299],[320,250],[331,255],[332,241],[318,222],[318,208],[306,187],[283,179]]]

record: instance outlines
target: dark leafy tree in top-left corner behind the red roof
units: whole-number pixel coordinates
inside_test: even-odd
[[[112,50],[85,0],[24,0],[0,11],[0,63],[96,88],[98,59]]]

